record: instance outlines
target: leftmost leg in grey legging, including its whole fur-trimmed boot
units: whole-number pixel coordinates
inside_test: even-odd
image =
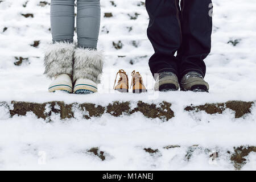
[[[51,32],[53,44],[47,48],[44,56],[45,72],[48,77],[55,78],[49,86],[49,92],[64,90],[73,92],[73,54],[72,44],[75,26],[75,0],[51,1]]]

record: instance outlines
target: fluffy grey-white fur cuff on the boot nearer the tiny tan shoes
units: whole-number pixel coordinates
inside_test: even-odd
[[[79,78],[85,78],[100,83],[104,55],[94,49],[75,49],[73,82]]]

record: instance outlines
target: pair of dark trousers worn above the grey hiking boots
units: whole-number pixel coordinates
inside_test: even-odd
[[[150,16],[147,35],[155,50],[149,60],[153,76],[163,71],[174,72],[179,78],[191,71],[205,76],[212,1],[181,0],[180,9],[179,0],[146,0],[146,9]]]

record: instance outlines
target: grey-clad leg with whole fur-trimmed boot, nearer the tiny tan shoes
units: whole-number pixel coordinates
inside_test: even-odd
[[[77,0],[78,47],[74,53],[74,93],[97,92],[104,56],[97,51],[100,30],[100,0]]]

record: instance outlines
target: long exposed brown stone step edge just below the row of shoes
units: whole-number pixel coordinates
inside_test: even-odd
[[[241,118],[245,114],[251,113],[251,108],[255,102],[245,101],[228,101],[225,103],[213,103],[205,105],[188,105],[181,109],[188,112],[205,111],[208,114],[222,114],[226,109],[234,111],[234,118]],[[135,106],[135,107],[134,107]],[[162,121],[169,121],[175,117],[172,104],[169,102],[159,102],[159,104],[148,104],[143,101],[119,102],[115,101],[108,105],[96,105],[93,103],[84,104],[65,104],[62,101],[51,101],[46,103],[34,102],[0,102],[0,110],[5,109],[6,114],[13,117],[14,115],[26,115],[27,112],[34,113],[38,118],[48,119],[52,114],[60,114],[61,119],[73,118],[74,113],[79,111],[85,119],[91,117],[101,117],[105,113],[109,113],[114,117],[121,115],[131,115],[140,112],[147,118],[159,118]]]

